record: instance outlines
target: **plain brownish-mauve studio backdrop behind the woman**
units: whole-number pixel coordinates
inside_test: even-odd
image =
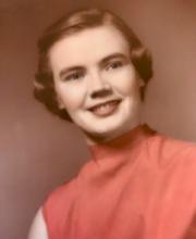
[[[90,2],[90,3],[88,3]],[[151,50],[155,77],[144,120],[169,136],[196,141],[196,1],[0,1],[0,238],[26,238],[47,193],[89,158],[81,133],[33,98],[35,42],[42,28],[77,7],[122,14]]]

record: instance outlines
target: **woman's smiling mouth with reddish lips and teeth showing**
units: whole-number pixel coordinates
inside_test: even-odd
[[[113,114],[114,111],[118,109],[120,102],[121,100],[112,100],[112,101],[108,101],[106,103],[101,103],[96,106],[93,106],[88,110],[97,116],[105,117],[105,116]]]

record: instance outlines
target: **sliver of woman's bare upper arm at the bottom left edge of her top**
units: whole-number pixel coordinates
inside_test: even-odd
[[[39,209],[33,221],[28,239],[49,239],[41,209]]]

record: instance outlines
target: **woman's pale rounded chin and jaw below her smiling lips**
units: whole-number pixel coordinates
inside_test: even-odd
[[[130,101],[125,101],[114,114],[106,118],[81,112],[73,121],[88,138],[94,139],[94,141],[105,141],[135,127],[138,124],[137,110]]]

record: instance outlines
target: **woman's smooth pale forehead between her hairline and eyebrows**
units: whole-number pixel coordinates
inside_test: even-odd
[[[93,63],[117,52],[128,56],[128,43],[120,30],[103,25],[60,39],[50,49],[49,59],[51,66],[62,67]]]

